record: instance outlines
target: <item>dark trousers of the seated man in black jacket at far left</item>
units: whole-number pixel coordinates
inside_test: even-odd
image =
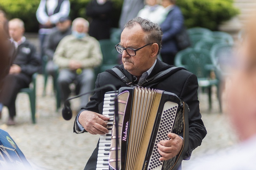
[[[0,91],[0,103],[7,106],[9,116],[16,115],[15,100],[20,89],[29,86],[31,78],[23,73],[8,74],[3,80],[3,86]]]

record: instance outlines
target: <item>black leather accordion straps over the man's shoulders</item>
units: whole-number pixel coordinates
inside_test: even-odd
[[[137,86],[143,86],[143,87],[151,87],[157,83],[159,83],[160,78],[165,78],[167,75],[170,76],[170,74],[175,73],[178,70],[184,69],[182,67],[170,67],[166,70],[163,70],[159,73],[157,73],[156,75],[154,75],[152,78],[150,79],[145,79],[142,82],[140,82]],[[133,86],[132,82],[124,75],[124,73],[122,73],[122,71],[120,71],[118,68],[114,67],[111,70],[113,70],[118,77],[125,82],[128,86]]]

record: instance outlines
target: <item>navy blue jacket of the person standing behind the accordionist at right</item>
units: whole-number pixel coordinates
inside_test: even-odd
[[[177,53],[178,48],[174,36],[179,33],[184,24],[184,17],[178,6],[174,5],[165,20],[160,24],[163,32],[161,53]]]

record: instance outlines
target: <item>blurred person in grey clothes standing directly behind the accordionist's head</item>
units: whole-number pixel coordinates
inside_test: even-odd
[[[119,28],[124,29],[126,22],[135,18],[144,7],[144,0],[124,0],[119,18]]]

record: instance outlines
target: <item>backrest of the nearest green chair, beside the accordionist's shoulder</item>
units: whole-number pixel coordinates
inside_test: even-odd
[[[174,59],[175,66],[184,67],[196,74],[197,78],[209,78],[212,66],[210,51],[188,48],[179,51]]]

